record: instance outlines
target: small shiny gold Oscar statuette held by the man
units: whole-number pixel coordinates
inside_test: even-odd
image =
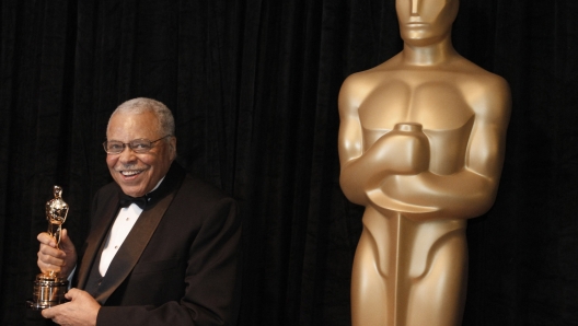
[[[46,202],[46,220],[48,220],[48,234],[56,238],[56,247],[60,244],[60,232],[68,214],[68,203],[62,200],[62,188],[54,186],[54,199]],[[65,293],[68,290],[68,280],[50,270],[36,276],[34,282],[33,301],[28,307],[43,310],[66,302]]]

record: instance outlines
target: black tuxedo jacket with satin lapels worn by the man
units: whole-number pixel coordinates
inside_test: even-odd
[[[77,269],[79,289],[119,209],[101,188]],[[235,201],[173,163],[99,281],[97,325],[234,325],[240,305],[241,222]]]

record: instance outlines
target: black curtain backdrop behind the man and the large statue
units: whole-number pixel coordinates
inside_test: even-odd
[[[338,185],[337,94],[401,50],[394,2],[2,0],[0,324],[22,323],[53,185],[80,245],[108,116],[148,96],[175,115],[180,162],[240,202],[240,325],[350,325],[363,210]],[[496,203],[469,223],[463,325],[578,325],[577,16],[461,3],[455,48],[513,98]]]

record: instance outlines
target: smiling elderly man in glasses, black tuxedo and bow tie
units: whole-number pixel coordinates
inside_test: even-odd
[[[79,261],[66,231],[59,249],[47,233],[38,235],[38,267],[74,273],[77,287],[70,302],[43,316],[61,325],[234,325],[235,201],[173,162],[174,120],[160,102],[123,103],[106,138],[115,182],[96,193]]]

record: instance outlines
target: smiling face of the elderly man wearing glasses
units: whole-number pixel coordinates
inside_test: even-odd
[[[115,114],[108,125],[106,138],[124,143],[139,138],[154,141],[166,136],[160,135],[158,126],[157,116],[151,112]],[[106,155],[108,171],[125,194],[143,196],[164,177],[176,155],[176,139],[169,139],[169,143],[164,139],[153,143],[153,148],[147,153],[135,153],[126,145],[120,154]]]

